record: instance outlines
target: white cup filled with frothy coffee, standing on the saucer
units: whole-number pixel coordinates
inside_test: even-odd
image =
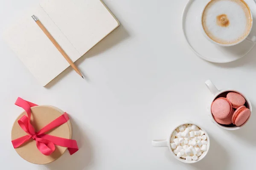
[[[210,0],[201,12],[201,29],[210,42],[233,46],[245,39],[256,42],[251,35],[253,15],[244,0]]]

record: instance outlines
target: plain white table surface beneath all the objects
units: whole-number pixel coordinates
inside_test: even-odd
[[[181,30],[186,0],[104,0],[121,26],[47,88],[39,85],[0,38],[0,164],[3,170],[241,170],[255,169],[254,114],[240,130],[227,131],[207,115],[212,95],[204,85],[243,92],[255,109],[256,47],[227,64],[206,62],[189,49]],[[38,0],[0,0],[0,33]],[[67,111],[79,151],[48,165],[26,162],[12,147],[11,128],[22,109],[16,98]],[[151,147],[183,120],[209,133],[208,155],[183,164],[168,148]]]

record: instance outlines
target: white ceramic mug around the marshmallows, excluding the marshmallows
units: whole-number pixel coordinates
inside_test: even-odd
[[[203,152],[201,156],[198,157],[198,160],[194,161],[186,161],[185,159],[182,159],[182,158],[178,158],[175,153],[173,153],[172,151],[172,148],[171,148],[171,136],[172,136],[172,133],[174,132],[175,129],[177,129],[179,126],[181,125],[186,125],[186,124],[192,124],[192,125],[196,125],[198,126],[201,130],[204,131],[204,134],[207,136],[207,151]],[[156,139],[156,140],[152,140],[152,146],[153,147],[169,147],[169,150],[172,154],[172,156],[174,156],[176,159],[178,159],[179,161],[183,162],[183,163],[187,163],[187,164],[192,164],[192,163],[195,163],[195,162],[198,162],[198,161],[201,161],[208,153],[209,151],[209,147],[210,147],[210,139],[209,139],[209,135],[207,134],[207,132],[199,125],[193,123],[193,122],[184,122],[184,123],[181,123],[179,125],[177,125],[173,130],[172,132],[169,134],[169,136],[167,137],[167,139]]]

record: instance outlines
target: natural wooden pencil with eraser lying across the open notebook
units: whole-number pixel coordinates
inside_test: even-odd
[[[68,55],[65,53],[65,51],[61,48],[61,46],[58,44],[58,42],[52,37],[52,35],[47,31],[47,29],[44,27],[44,25],[38,20],[38,18],[35,15],[32,15],[32,18],[35,20],[35,23],[41,28],[41,30],[44,32],[44,34],[49,38],[49,40],[52,42],[52,44],[60,51],[62,56],[67,60],[67,62],[71,65],[71,67],[79,74],[82,78],[83,75],[79,71],[79,69],[76,67],[74,62],[68,57]]]

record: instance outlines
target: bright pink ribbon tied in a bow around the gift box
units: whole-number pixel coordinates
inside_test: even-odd
[[[28,115],[24,115],[18,120],[18,124],[26,133],[28,133],[28,135],[12,140],[12,145],[14,148],[20,147],[20,145],[22,145],[23,143],[29,141],[30,139],[33,139],[36,142],[38,150],[47,156],[54,152],[55,145],[67,147],[67,150],[69,151],[70,155],[78,151],[76,140],[65,139],[57,136],[44,134],[47,131],[52,130],[53,128],[66,123],[69,120],[69,117],[66,112],[59,116],[57,119],[50,122],[48,125],[43,127],[38,132],[35,132],[35,128],[30,123],[30,108],[37,105],[26,100],[23,100],[20,97],[18,97],[18,99],[16,100],[15,105],[23,108]]]

